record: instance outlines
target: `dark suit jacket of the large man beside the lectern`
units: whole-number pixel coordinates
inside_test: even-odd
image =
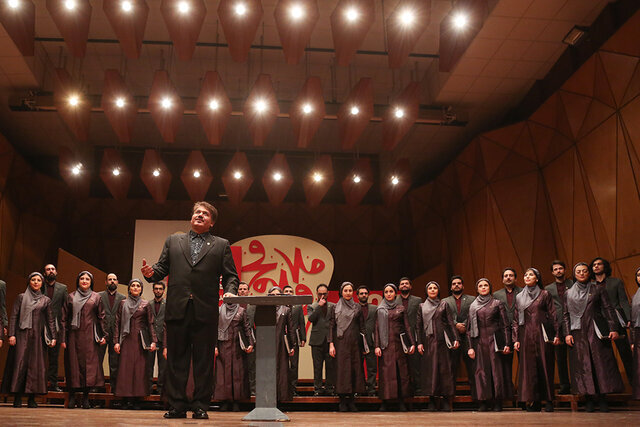
[[[211,233],[205,233],[204,239],[198,259],[193,263],[189,234],[167,237],[160,258],[153,265],[153,276],[145,278],[153,283],[169,276],[167,321],[183,319],[187,303],[193,299],[196,319],[217,324],[220,277],[225,292],[235,294],[238,289],[238,273],[229,241]]]

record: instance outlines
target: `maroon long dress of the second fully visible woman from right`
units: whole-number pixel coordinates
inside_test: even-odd
[[[518,400],[521,402],[552,401],[554,395],[553,339],[558,336],[558,317],[551,294],[541,290],[524,311],[524,325],[518,325],[518,307],[513,312],[513,340],[520,342],[518,366]],[[544,342],[545,325],[549,342]]]

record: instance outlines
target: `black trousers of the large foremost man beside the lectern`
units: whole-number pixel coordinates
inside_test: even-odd
[[[165,395],[177,411],[209,409],[213,394],[213,358],[218,340],[218,318],[200,322],[193,300],[187,303],[184,318],[168,320]],[[187,398],[189,366],[193,362],[193,400]]]

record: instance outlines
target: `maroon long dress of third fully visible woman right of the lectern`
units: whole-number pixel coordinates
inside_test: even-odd
[[[428,304],[428,301],[422,304]],[[416,331],[418,342],[424,346],[422,355],[422,394],[425,396],[453,396],[456,392],[455,377],[451,366],[451,350],[447,347],[445,331],[451,344],[460,341],[458,331],[453,327],[453,318],[447,310],[447,302],[440,301],[431,319],[433,334],[427,336],[422,318],[422,304],[418,309]]]

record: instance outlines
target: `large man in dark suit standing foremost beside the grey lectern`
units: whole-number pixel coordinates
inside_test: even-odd
[[[207,202],[196,202],[189,233],[167,237],[153,267],[142,260],[148,282],[169,276],[165,319],[167,328],[167,376],[165,391],[171,409],[165,418],[208,419],[213,394],[213,358],[218,340],[220,279],[225,295],[234,295],[238,273],[229,241],[211,234],[218,211]],[[193,400],[187,399],[189,367],[193,363]]]

